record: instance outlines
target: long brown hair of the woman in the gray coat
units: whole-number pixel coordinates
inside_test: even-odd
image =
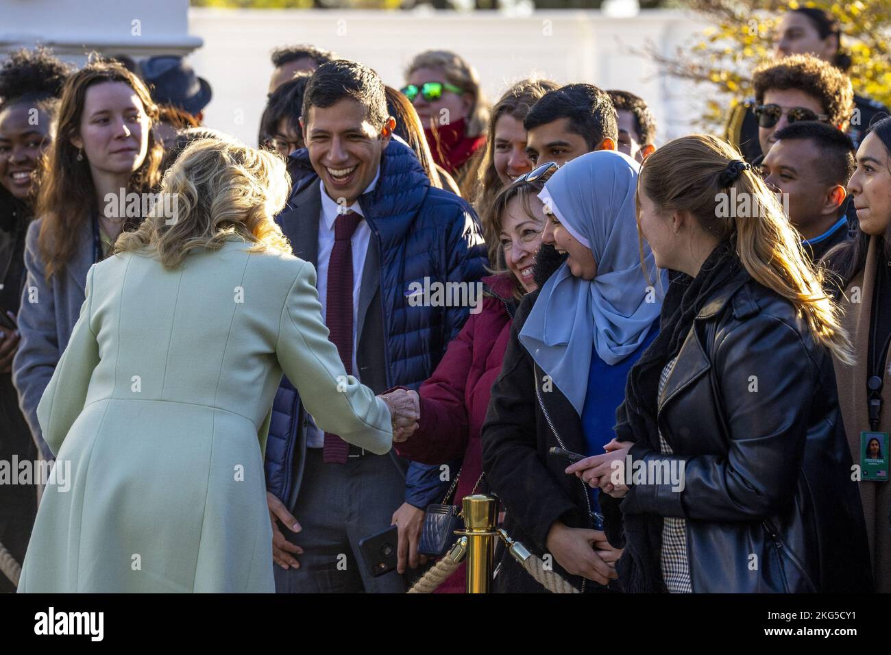
[[[73,73],[61,91],[56,136],[46,151],[42,167],[40,192],[37,196],[37,217],[43,222],[37,236],[37,247],[44,261],[46,280],[60,272],[74,256],[80,234],[88,229],[98,199],[86,156],[78,160],[78,149],[71,139],[80,133],[86,92],[103,82],[121,82],[133,89],[143,112],[148,116],[148,150],[139,168],[130,176],[127,192],[152,192],[160,178],[164,148],[156,137],[153,125],[158,122],[158,107],[151,101],[143,81],[117,61],[94,59]]]

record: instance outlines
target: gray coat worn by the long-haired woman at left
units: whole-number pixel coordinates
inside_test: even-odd
[[[79,235],[78,250],[59,273],[46,282],[44,261],[37,249],[37,234],[43,219],[31,222],[25,237],[25,267],[28,277],[19,307],[19,350],[12,360],[12,383],[19,392],[19,405],[31,436],[45,459],[53,453],[40,433],[37,404],[53,377],[56,364],[68,345],[86,293],[86,272],[94,264],[93,234]],[[75,238],[77,235],[72,235]]]

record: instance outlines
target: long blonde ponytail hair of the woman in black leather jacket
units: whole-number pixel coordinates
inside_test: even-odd
[[[638,193],[645,193],[660,213],[688,211],[719,242],[733,240],[742,266],[756,282],[789,300],[811,328],[813,338],[852,364],[851,342],[838,322],[838,307],[824,291],[821,267],[814,267],[801,237],[783,214],[780,201],[753,170],[743,170],[730,186],[719,181],[740,151],[709,135],[683,136],[654,151],[642,164]],[[722,217],[720,194],[735,188],[761,209],[754,216]],[[640,208],[640,201],[638,201]],[[640,211],[640,209],[638,209]]]

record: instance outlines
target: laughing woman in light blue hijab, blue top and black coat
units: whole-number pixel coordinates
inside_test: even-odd
[[[646,247],[641,265],[637,173],[626,155],[594,151],[545,182],[538,197],[552,217],[542,242],[568,258],[520,303],[482,430],[505,529],[551,553],[554,570],[582,592],[609,585],[621,551],[603,533],[598,490],[568,476],[550,451],[603,454],[628,371],[656,337],[662,288],[644,273],[657,272]],[[527,591],[526,571],[510,560],[496,590]]]

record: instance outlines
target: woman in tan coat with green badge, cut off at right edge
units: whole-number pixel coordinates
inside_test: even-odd
[[[823,258],[844,287],[844,324],[854,339],[855,363],[835,360],[838,401],[847,443],[860,462],[862,438],[891,432],[888,345],[891,342],[891,119],[873,125],[857,150],[857,168],[847,184],[859,225],[850,242]],[[883,411],[882,407],[885,406]],[[858,483],[870,536],[877,591],[891,592],[891,485]]]

